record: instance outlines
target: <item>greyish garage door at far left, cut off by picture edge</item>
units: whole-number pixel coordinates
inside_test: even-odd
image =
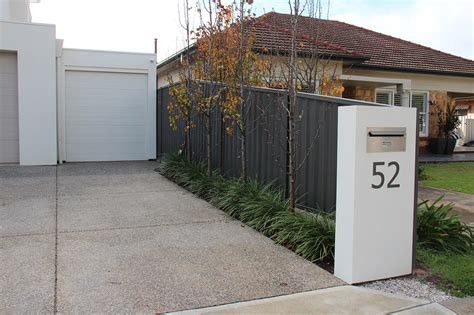
[[[0,163],[19,162],[16,54],[0,52]]]

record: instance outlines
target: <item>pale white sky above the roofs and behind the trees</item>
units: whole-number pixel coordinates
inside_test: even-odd
[[[34,22],[56,24],[65,47],[153,52],[157,37],[161,60],[184,44],[178,1],[41,0],[31,11]],[[474,59],[474,0],[322,1],[330,19]],[[254,3],[257,15],[288,11],[288,0]]]

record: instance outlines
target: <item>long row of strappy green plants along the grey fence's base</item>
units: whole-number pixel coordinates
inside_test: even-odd
[[[301,256],[317,262],[334,257],[334,218],[326,214],[292,212],[281,191],[256,180],[206,174],[201,163],[179,155],[161,160],[159,171],[232,217],[262,232]]]

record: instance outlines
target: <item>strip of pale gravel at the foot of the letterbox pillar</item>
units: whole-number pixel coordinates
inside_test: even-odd
[[[452,298],[449,294],[437,289],[434,285],[406,277],[364,283],[361,287],[387,293],[404,295],[412,298],[441,302]]]

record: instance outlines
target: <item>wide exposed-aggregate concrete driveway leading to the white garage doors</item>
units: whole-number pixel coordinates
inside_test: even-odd
[[[0,313],[156,313],[342,284],[156,167],[0,167]]]

